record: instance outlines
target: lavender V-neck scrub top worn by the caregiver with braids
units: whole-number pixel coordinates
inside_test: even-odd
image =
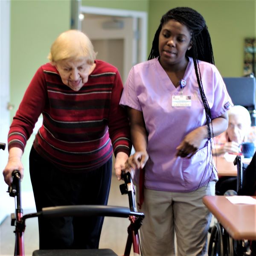
[[[204,93],[214,119],[233,103],[217,68],[204,61],[199,61],[199,66]],[[184,136],[206,124],[192,58],[189,58],[183,79],[186,86],[182,93],[191,96],[191,106],[188,107],[172,106],[172,96],[181,95],[181,88],[172,84],[158,58],[132,67],[122,93],[120,105],[143,112],[148,132],[147,189],[191,192],[211,180],[218,180],[211,141],[205,140],[190,159],[175,157],[176,147]],[[138,177],[139,172],[134,177],[137,184]]]

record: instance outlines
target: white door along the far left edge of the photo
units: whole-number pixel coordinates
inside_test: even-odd
[[[14,200],[6,193],[8,186],[3,180],[3,169],[8,159],[7,135],[10,125],[9,104],[9,35],[10,1],[0,0],[0,143],[6,143],[5,151],[0,150],[0,223],[13,211]]]

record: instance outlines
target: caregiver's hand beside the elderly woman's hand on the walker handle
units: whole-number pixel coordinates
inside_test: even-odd
[[[137,169],[142,169],[148,160],[148,153],[146,151],[136,151],[125,162],[125,168],[122,170],[131,173],[131,177],[134,177]]]

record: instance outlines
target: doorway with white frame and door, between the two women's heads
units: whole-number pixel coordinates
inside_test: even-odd
[[[123,83],[131,67],[147,55],[147,13],[81,6],[81,31],[102,59],[116,66]]]

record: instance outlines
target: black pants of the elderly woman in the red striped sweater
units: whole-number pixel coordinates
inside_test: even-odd
[[[37,211],[43,207],[108,203],[112,159],[91,172],[61,172],[32,147],[30,177]],[[38,218],[40,249],[93,249],[99,247],[104,217]]]

